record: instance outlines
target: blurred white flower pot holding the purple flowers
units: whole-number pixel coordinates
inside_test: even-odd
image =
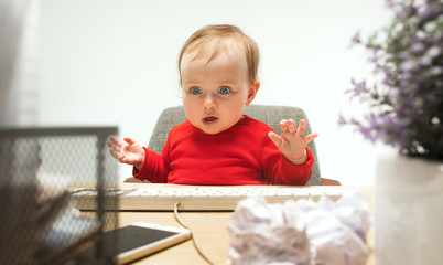
[[[443,264],[443,162],[380,156],[375,219],[377,265]]]

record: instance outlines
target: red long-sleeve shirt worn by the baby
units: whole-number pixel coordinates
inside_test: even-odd
[[[269,139],[271,130],[246,115],[216,135],[185,121],[170,131],[162,155],[144,148],[143,165],[140,171],[133,168],[133,176],[154,183],[306,184],[314,162],[312,152],[306,148],[305,163],[291,163]]]

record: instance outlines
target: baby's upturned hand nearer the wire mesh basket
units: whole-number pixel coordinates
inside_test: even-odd
[[[144,159],[144,150],[139,142],[131,138],[123,138],[126,142],[119,141],[112,136],[108,140],[109,152],[119,162],[129,163],[140,169]]]

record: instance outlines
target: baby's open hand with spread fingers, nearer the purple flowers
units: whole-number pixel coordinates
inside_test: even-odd
[[[306,146],[310,141],[315,139],[318,134],[311,134],[304,136],[306,129],[306,120],[300,120],[299,128],[293,119],[283,119],[280,121],[281,136],[273,131],[269,131],[268,136],[271,138],[277,148],[283,156],[294,165],[301,165],[306,161]]]

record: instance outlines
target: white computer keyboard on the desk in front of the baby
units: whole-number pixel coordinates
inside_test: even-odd
[[[74,203],[79,210],[95,210],[96,190],[71,188]],[[237,202],[253,195],[261,195],[269,203],[285,200],[313,199],[322,195],[337,200],[345,192],[343,187],[272,187],[272,186],[201,186],[164,187],[148,186],[142,188],[108,189],[105,194],[118,195],[119,210],[127,211],[173,211],[180,202],[181,211],[234,211]]]

